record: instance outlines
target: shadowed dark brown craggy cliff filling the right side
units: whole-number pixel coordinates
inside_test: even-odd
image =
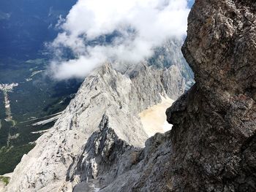
[[[182,51],[196,84],[167,110],[172,191],[256,191],[255,39],[255,1],[195,1]]]

